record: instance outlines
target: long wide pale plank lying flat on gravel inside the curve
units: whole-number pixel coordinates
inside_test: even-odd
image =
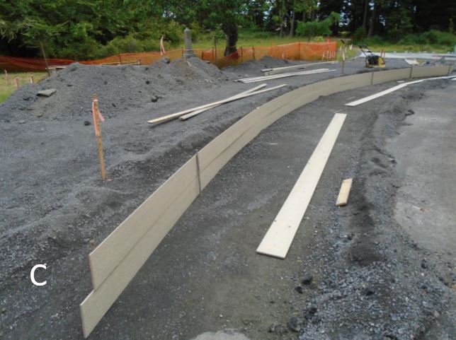
[[[256,252],[285,259],[346,115],[336,113]]]

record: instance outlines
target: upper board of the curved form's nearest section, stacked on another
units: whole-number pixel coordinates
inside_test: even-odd
[[[101,286],[161,214],[197,177],[196,157],[193,156],[89,254],[93,289]]]

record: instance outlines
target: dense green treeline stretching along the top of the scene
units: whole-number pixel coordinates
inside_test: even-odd
[[[326,35],[380,43],[456,43],[455,0],[0,0],[0,53],[92,59],[120,52],[181,46],[193,37],[226,39],[226,53],[243,35],[307,39]]]

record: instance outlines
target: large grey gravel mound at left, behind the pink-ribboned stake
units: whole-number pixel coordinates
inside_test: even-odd
[[[71,64],[56,76],[37,85],[23,86],[0,107],[3,119],[72,119],[87,117],[93,93],[107,117],[125,115],[132,108],[156,102],[170,92],[210,88],[227,77],[216,66],[198,58],[178,59],[171,64],[156,61],[149,66],[92,66]],[[50,98],[40,90],[55,88]],[[33,117],[32,116],[32,117]]]

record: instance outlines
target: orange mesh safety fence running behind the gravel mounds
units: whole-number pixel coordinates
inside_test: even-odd
[[[295,60],[334,60],[336,59],[337,42],[295,42],[287,45],[270,47],[239,47],[239,49],[224,56],[224,49],[194,49],[197,57],[210,61],[220,68],[234,66],[252,59],[269,56],[278,59]],[[162,57],[171,60],[181,58],[183,49],[171,49],[165,54],[160,52],[122,53],[103,59],[78,61],[86,65],[120,65],[120,64],[152,64]],[[50,68],[65,66],[76,61],[71,59],[47,59]],[[6,71],[46,71],[45,60],[41,58],[21,58],[0,56],[0,68]]]

